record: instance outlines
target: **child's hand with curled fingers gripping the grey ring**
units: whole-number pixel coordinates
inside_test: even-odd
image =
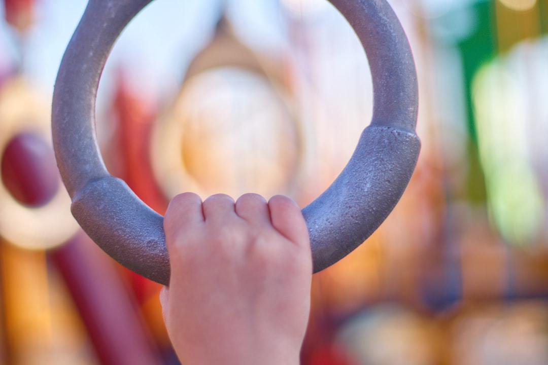
[[[164,217],[171,265],[161,293],[175,351],[189,365],[296,365],[310,310],[312,258],[299,207],[256,194],[236,204],[176,196]]]

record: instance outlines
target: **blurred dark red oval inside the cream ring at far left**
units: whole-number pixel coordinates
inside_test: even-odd
[[[53,149],[36,133],[15,135],[2,153],[2,182],[22,204],[46,204],[60,185]]]

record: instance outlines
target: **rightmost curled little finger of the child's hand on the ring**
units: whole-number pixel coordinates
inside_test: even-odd
[[[272,196],[269,200],[270,220],[280,234],[295,244],[307,244],[309,233],[299,206],[283,195]]]

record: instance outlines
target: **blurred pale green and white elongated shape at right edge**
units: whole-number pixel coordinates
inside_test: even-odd
[[[530,244],[544,207],[530,160],[528,100],[520,75],[505,59],[495,59],[474,77],[472,99],[490,214],[507,241]]]

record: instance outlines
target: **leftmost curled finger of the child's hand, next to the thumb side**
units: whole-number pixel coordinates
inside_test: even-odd
[[[175,196],[169,202],[164,215],[164,232],[170,241],[180,230],[204,222],[202,199],[194,193],[183,193]]]

